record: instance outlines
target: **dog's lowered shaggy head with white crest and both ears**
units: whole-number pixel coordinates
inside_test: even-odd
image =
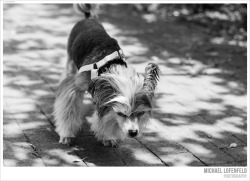
[[[132,68],[114,65],[107,73],[93,79],[89,93],[101,125],[116,125],[128,137],[139,135],[151,116],[158,80],[159,68],[153,63],[147,65],[144,77]]]

